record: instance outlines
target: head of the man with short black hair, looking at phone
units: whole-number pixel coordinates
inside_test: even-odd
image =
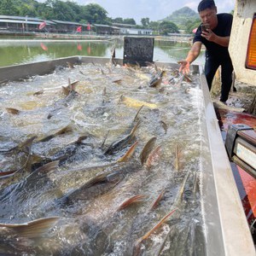
[[[202,0],[197,9],[203,24],[207,24],[211,29],[218,25],[217,7],[213,0]]]

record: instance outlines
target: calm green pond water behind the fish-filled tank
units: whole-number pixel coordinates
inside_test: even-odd
[[[72,55],[108,57],[115,46],[116,58],[123,58],[123,43],[116,41],[3,39],[0,41],[0,67],[49,61]],[[154,61],[177,62],[186,57],[188,43],[154,41]],[[204,63],[204,53],[195,64]]]

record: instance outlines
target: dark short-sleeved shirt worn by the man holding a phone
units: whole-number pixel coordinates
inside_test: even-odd
[[[219,37],[230,37],[233,16],[230,14],[218,14],[218,25],[212,30]],[[220,58],[229,57],[228,47],[208,41],[206,38],[201,37],[201,26],[197,28],[193,43],[201,42],[207,48],[206,55],[218,56]]]

